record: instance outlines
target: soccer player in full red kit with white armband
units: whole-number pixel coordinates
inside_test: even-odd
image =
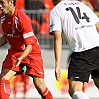
[[[15,0],[0,0],[0,9],[0,22],[4,32],[0,38],[0,47],[7,42],[10,44],[0,74],[0,99],[9,99],[10,79],[21,74],[24,65],[27,67],[25,74],[33,78],[42,99],[53,99],[44,82],[41,50],[32,30],[31,19],[15,7]]]

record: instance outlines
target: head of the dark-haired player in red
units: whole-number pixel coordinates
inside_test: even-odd
[[[8,14],[11,12],[13,7],[15,6],[16,0],[0,0],[0,9],[4,14]]]

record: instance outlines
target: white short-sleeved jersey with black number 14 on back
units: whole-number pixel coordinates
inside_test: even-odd
[[[72,50],[81,52],[99,46],[95,27],[98,22],[99,18],[85,4],[63,0],[50,12],[50,33],[63,30]]]

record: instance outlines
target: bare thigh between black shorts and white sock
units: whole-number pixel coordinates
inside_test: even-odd
[[[83,82],[75,81],[73,78],[69,79],[69,93],[72,95],[76,91],[82,91]]]

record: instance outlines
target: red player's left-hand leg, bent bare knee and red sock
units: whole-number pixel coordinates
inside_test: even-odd
[[[14,76],[16,72],[3,69],[0,74],[0,99],[9,99],[11,94],[10,89],[10,79]]]

